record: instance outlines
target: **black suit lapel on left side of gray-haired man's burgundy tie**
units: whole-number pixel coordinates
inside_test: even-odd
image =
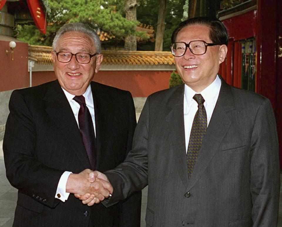
[[[66,143],[70,144],[82,165],[90,168],[73,111],[58,81],[50,84],[43,100],[46,102],[46,113],[65,136]]]

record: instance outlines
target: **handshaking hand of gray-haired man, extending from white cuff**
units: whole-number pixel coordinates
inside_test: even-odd
[[[86,169],[79,174],[70,174],[66,184],[66,192],[73,193],[76,197],[78,197],[77,195],[91,195],[94,203],[99,203],[105,198],[108,198],[110,192],[113,192],[113,187],[109,182],[95,178],[93,175],[91,175],[91,178],[89,179],[89,174],[91,172],[92,170]],[[93,178],[95,180],[93,180]],[[84,204],[86,204],[86,202],[84,202]]]

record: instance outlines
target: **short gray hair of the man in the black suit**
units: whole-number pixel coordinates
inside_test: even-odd
[[[97,33],[95,32],[95,30],[93,28],[90,28],[88,25],[83,24],[83,23],[68,23],[68,24],[63,25],[57,31],[57,33],[55,35],[55,38],[54,38],[53,44],[52,44],[53,50],[56,49],[58,39],[64,33],[69,32],[69,31],[77,31],[77,32],[81,32],[81,33],[88,35],[94,41],[96,52],[98,54],[101,53],[101,43],[100,43],[99,36],[97,35]]]

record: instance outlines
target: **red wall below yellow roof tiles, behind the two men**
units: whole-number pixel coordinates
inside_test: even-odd
[[[172,71],[99,71],[94,81],[130,91],[133,97],[167,89]],[[53,71],[32,72],[32,86],[56,79]]]

